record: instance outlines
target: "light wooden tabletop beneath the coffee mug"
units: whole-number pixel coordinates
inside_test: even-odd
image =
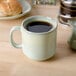
[[[76,76],[76,52],[67,44],[70,27],[58,23],[56,54],[44,62],[28,59],[21,49],[13,48],[9,42],[10,29],[20,25],[23,19],[32,15],[56,18],[58,10],[58,6],[34,6],[24,17],[0,20],[0,76]],[[14,36],[20,42],[20,32],[16,32]]]

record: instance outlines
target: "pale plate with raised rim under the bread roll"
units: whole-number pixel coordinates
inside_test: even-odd
[[[31,11],[31,5],[28,2],[26,2],[25,0],[18,0],[18,1],[22,5],[22,8],[23,8],[22,13],[19,15],[15,15],[15,16],[0,17],[0,20],[16,19],[16,18],[19,18],[19,17],[26,15],[28,12]]]

